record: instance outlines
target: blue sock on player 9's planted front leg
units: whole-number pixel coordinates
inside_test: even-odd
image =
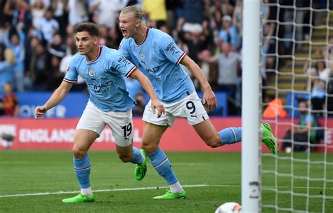
[[[169,159],[166,157],[162,149],[158,148],[155,153],[148,155],[148,157],[150,158],[152,166],[155,168],[159,175],[164,177],[169,185],[176,184],[176,182],[178,182],[174,171],[171,169]]]

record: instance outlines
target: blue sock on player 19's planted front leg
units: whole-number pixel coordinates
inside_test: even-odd
[[[77,180],[79,181],[81,188],[90,187],[90,160],[88,154],[81,159],[73,158],[74,162],[74,171],[77,175]]]

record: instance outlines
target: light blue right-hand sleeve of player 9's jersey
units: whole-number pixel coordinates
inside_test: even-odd
[[[162,54],[165,55],[167,59],[169,59],[174,64],[181,63],[183,57],[185,57],[186,53],[183,50],[178,48],[174,39],[171,38],[168,34],[162,36],[162,39],[159,40],[160,42],[160,51]]]

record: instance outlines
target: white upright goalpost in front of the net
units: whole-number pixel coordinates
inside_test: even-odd
[[[243,212],[259,212],[261,198],[259,176],[259,26],[260,0],[245,0],[242,43]]]

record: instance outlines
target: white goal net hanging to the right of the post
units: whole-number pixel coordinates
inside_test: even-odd
[[[261,212],[333,212],[333,1],[261,5]]]

